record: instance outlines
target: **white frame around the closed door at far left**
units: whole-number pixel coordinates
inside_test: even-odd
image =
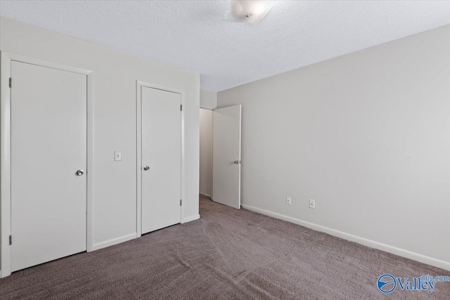
[[[11,62],[28,63],[84,74],[87,78],[87,169],[86,169],[86,247],[87,252],[92,251],[94,242],[94,203],[93,203],[93,141],[94,141],[94,72],[80,69],[60,63],[53,63],[37,58],[21,56],[15,53],[1,51],[0,53],[0,223],[1,223],[1,252],[0,268],[1,277],[11,275],[11,246],[9,236],[11,235],[11,89],[9,79],[11,77]],[[14,79],[13,83],[14,84]]]

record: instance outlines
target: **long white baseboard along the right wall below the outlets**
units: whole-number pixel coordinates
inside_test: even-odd
[[[367,247],[383,250],[385,252],[396,254],[398,256],[406,257],[406,259],[412,259],[413,261],[419,261],[420,263],[426,263],[426,264],[428,264],[430,266],[435,266],[437,268],[442,268],[444,270],[450,270],[450,262],[448,262],[448,261],[441,261],[440,259],[434,259],[434,258],[432,258],[430,256],[425,256],[423,254],[418,254],[416,252],[411,252],[411,251],[406,250],[406,249],[401,249],[401,248],[397,248],[397,247],[394,247],[394,246],[390,246],[389,244],[383,244],[381,242],[375,242],[374,240],[368,240],[368,239],[366,239],[364,237],[359,237],[359,236],[356,236],[356,235],[352,235],[350,233],[344,233],[344,232],[342,232],[340,230],[335,230],[335,229],[328,228],[328,227],[321,226],[321,225],[317,225],[317,224],[314,224],[314,223],[309,223],[307,221],[302,221],[300,219],[295,219],[295,218],[290,217],[290,216],[285,216],[283,214],[278,214],[278,213],[273,212],[273,211],[260,209],[258,207],[252,207],[252,206],[246,205],[246,204],[241,204],[241,207],[243,207],[244,209],[248,209],[250,211],[255,211],[255,212],[259,213],[259,214],[264,214],[266,216],[271,216],[272,218],[275,218],[275,219],[288,221],[290,223],[295,223],[297,225],[304,226],[304,227],[312,229],[312,230],[321,231],[323,233],[328,233],[329,235],[333,235],[335,237],[340,237],[340,238],[342,238],[344,240],[349,240],[350,242],[356,242],[358,244],[362,244],[362,245],[367,246]]]

